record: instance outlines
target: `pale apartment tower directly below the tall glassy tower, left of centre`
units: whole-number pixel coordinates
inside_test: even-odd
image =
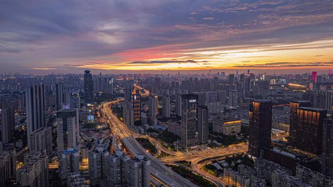
[[[60,179],[67,179],[72,172],[79,172],[80,154],[73,148],[58,152],[58,173]]]

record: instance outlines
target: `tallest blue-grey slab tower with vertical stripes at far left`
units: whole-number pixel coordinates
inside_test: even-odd
[[[25,90],[27,135],[30,148],[30,134],[41,127],[46,127],[45,120],[45,87],[33,85]]]

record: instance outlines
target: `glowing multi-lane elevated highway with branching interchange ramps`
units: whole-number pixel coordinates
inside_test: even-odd
[[[137,85],[135,85],[137,86]],[[138,86],[140,89],[144,89]],[[145,89],[144,89],[145,90]],[[148,90],[145,90],[145,93],[142,94],[142,97],[146,97],[149,95]],[[148,159],[150,159],[150,170],[151,170],[151,177],[154,181],[159,181],[159,183],[164,184],[165,186],[169,187],[197,187],[196,185],[192,184],[190,181],[179,175],[178,173],[174,172],[170,168],[166,167],[164,163],[182,161],[182,160],[190,160],[192,161],[191,167],[196,172],[200,173],[205,178],[208,178],[210,181],[214,182],[217,186],[221,187],[222,180],[214,177],[210,174],[205,173],[204,171],[200,170],[198,167],[198,163],[204,159],[219,157],[223,155],[235,154],[235,153],[244,153],[247,151],[247,144],[237,144],[233,146],[229,146],[228,148],[219,148],[219,149],[212,149],[212,150],[203,150],[203,151],[196,151],[192,153],[184,153],[184,152],[173,152],[167,150],[164,146],[160,144],[160,142],[150,136],[145,136],[152,142],[159,152],[163,151],[168,153],[170,157],[159,158],[156,159],[150,153],[147,153],[146,150],[136,141],[134,138],[135,136],[140,136],[132,133],[127,125],[121,122],[111,111],[111,105],[119,102],[123,102],[123,99],[119,99],[112,102],[105,102],[102,104],[103,113],[107,116],[110,122],[111,132],[114,136],[118,136],[123,145],[126,149],[131,153],[133,156],[137,156],[138,154],[142,154]],[[116,139],[114,137],[113,139]],[[114,147],[119,147],[114,145]]]

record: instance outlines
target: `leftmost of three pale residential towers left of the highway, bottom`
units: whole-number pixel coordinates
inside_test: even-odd
[[[89,151],[90,184],[96,185],[98,184],[98,180],[107,177],[107,156],[109,156],[109,151],[99,146]]]

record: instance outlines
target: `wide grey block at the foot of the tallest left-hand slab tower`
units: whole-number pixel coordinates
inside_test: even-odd
[[[46,152],[47,155],[52,153],[52,128],[42,127],[30,134],[30,152]]]

